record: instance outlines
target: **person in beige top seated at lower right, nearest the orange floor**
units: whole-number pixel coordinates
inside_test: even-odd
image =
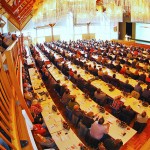
[[[142,114],[137,114],[136,121],[134,122],[133,129],[135,129],[138,133],[141,133],[147,125],[148,116],[146,112],[142,112]]]

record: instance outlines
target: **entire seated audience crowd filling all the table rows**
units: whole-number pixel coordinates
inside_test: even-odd
[[[0,34],[1,47],[7,49],[10,43],[13,41],[13,36],[10,33],[6,37]],[[50,49],[48,52],[45,46]],[[140,47],[126,47],[123,44],[115,43],[112,41],[82,41],[77,42],[70,41],[69,43],[64,41],[57,41],[51,43],[37,44],[38,47],[47,58],[53,63],[65,76],[66,79],[71,80],[75,86],[85,93],[85,96],[93,99],[100,107],[111,109],[111,113],[121,120],[123,123],[130,125],[134,122],[133,128],[141,133],[147,125],[148,116],[146,112],[137,114],[130,106],[124,106],[120,97],[112,100],[107,93],[102,92],[101,89],[94,87],[91,81],[85,81],[80,74],[77,74],[77,70],[73,71],[69,68],[67,61],[80,66],[82,69],[93,74],[95,77],[109,83],[111,86],[124,91],[125,93],[131,93],[132,96],[137,99],[141,99],[143,102],[150,104],[150,49],[143,49]],[[84,137],[85,142],[97,149],[97,150],[119,150],[123,145],[120,139],[113,139],[108,135],[109,123],[104,123],[103,117],[98,117],[92,111],[85,112],[81,110],[80,105],[76,102],[76,95],[71,95],[70,90],[66,84],[61,85],[59,80],[54,80],[45,62],[40,57],[35,46],[30,46],[31,54],[35,60],[36,67],[39,70],[41,78],[46,86],[52,86],[55,92],[60,98],[60,103],[66,108],[66,116],[69,120],[75,121],[75,127],[80,127],[80,135]],[[53,51],[53,52],[52,52]],[[144,55],[143,51],[146,52]],[[54,53],[58,53],[62,58],[56,59]],[[71,53],[71,55],[69,55]],[[27,53],[24,49],[24,68],[22,72],[23,79],[23,91],[26,103],[31,110],[31,114],[34,118],[33,135],[38,144],[44,148],[54,148],[57,146],[52,139],[44,119],[42,117],[42,107],[38,95],[34,93],[28,69],[30,66],[27,64]],[[93,57],[93,56],[98,57]],[[82,61],[82,58],[86,60],[94,61],[100,64],[102,67],[99,69],[95,66],[87,65]],[[130,61],[131,60],[131,61]],[[114,65],[114,61],[116,65]],[[140,66],[140,63],[144,64],[144,67]],[[103,67],[107,67],[114,70],[112,77],[108,75],[107,71],[103,71]],[[130,67],[135,68],[135,72],[130,71]],[[139,72],[142,71],[142,74]],[[116,72],[123,74],[138,81],[135,87],[129,84],[129,80],[126,83],[116,79]],[[141,84],[147,84],[145,89],[142,89]],[[71,114],[70,114],[71,112]],[[74,122],[73,122],[74,123]],[[84,133],[83,133],[84,132]],[[6,135],[7,136],[7,135]],[[8,137],[9,138],[9,137]],[[5,145],[6,148],[9,148]],[[86,149],[86,148],[83,148]]]

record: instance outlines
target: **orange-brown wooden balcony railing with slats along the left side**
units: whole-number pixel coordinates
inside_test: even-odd
[[[15,40],[3,54],[0,53],[0,130],[6,133],[0,133],[0,137],[11,149],[16,150],[21,150],[20,140],[22,139],[28,140],[28,147],[32,149],[22,115],[24,109],[33,121],[21,89],[23,44],[21,38]],[[25,135],[21,130],[24,130]],[[5,148],[0,145],[0,149]]]

